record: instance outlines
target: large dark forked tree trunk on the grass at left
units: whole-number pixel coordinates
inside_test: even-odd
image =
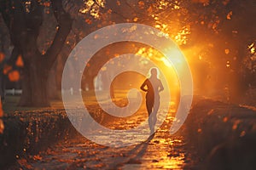
[[[51,3],[58,29],[46,54],[40,54],[37,39],[43,21],[42,6],[34,0],[31,11],[27,12],[21,0],[1,0],[0,2],[1,14],[9,28],[15,52],[21,54],[24,62],[21,73],[20,106],[49,106],[47,93],[49,70],[54,65],[73,23],[70,15],[62,7],[62,1],[51,0]],[[15,59],[9,62],[15,65]]]

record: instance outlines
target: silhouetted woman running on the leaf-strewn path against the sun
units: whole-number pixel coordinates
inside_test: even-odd
[[[151,133],[154,133],[154,125],[156,122],[156,114],[160,106],[160,91],[164,90],[163,84],[157,77],[158,71],[156,68],[150,69],[150,77],[143,82],[141,89],[146,94],[146,105],[148,111],[148,124]],[[145,88],[147,86],[147,88]],[[152,114],[152,116],[150,116]]]

